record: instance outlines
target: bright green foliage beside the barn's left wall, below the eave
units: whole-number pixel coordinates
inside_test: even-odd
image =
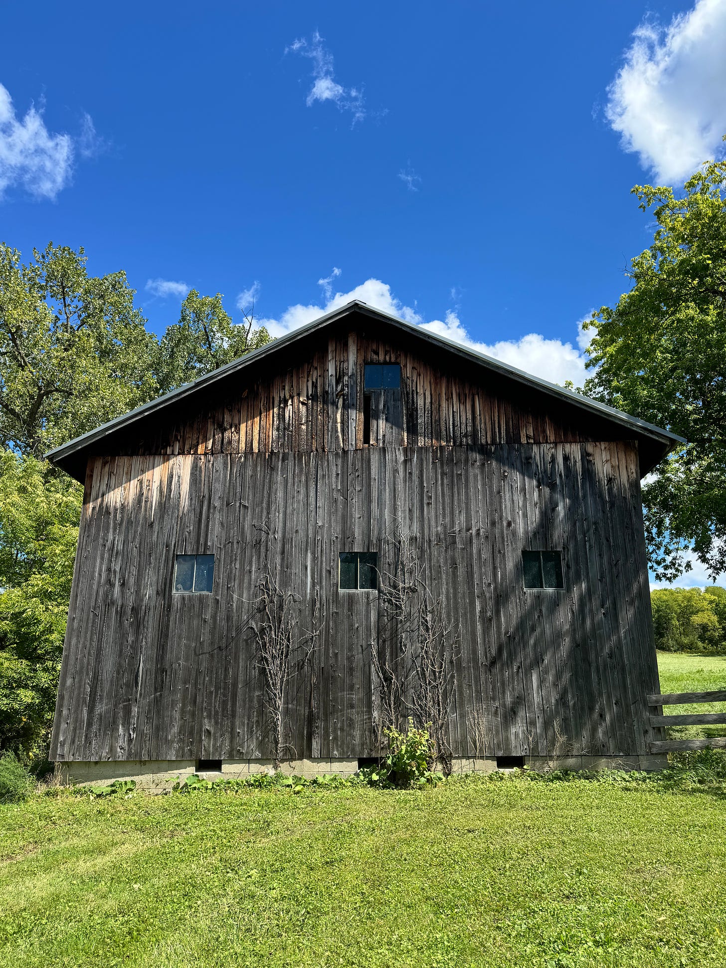
[[[0,452],[0,749],[48,740],[82,490],[44,461]]]

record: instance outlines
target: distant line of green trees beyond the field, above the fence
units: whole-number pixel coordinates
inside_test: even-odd
[[[726,589],[650,592],[655,648],[726,655]]]

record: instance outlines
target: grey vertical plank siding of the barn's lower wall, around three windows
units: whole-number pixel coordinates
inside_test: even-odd
[[[348,409],[313,404],[320,378],[350,392],[347,352],[295,371],[284,391],[273,383],[259,412],[248,394],[203,439],[180,428],[171,449],[194,454],[89,462],[52,759],[268,757],[248,626],[268,563],[299,596],[301,627],[320,625],[290,683],[287,755],[374,754],[381,595],[338,590],[338,555],[378,551],[385,571],[398,527],[461,629],[455,756],[648,752],[658,680],[637,449],[528,442],[531,414],[522,442],[481,443],[514,405],[492,408],[470,387],[449,420],[427,409],[433,377],[412,363],[404,441],[470,445],[351,449]],[[310,452],[290,452],[295,440]],[[524,589],[525,548],[562,549],[565,590]],[[181,553],[216,556],[211,594],[172,593]]]

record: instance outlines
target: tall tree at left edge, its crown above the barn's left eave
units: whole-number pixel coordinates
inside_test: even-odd
[[[126,273],[89,276],[82,248],[33,255],[0,244],[0,442],[41,457],[156,396],[157,341]]]

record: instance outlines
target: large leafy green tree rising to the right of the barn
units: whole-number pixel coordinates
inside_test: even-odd
[[[726,162],[705,164],[679,197],[633,194],[657,229],[631,261],[630,291],[586,323],[596,370],[585,392],[687,439],[643,489],[650,565],[673,581],[692,548],[715,578],[726,570]]]

